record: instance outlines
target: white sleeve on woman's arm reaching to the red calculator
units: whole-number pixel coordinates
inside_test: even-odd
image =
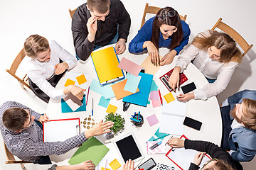
[[[193,60],[200,51],[201,50],[195,45],[189,45],[189,47],[181,55],[178,56],[175,67],[181,67],[181,72],[183,72],[191,60]]]

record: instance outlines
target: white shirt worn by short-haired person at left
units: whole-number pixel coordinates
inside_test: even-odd
[[[60,60],[66,62],[69,69],[75,67],[78,61],[54,40],[48,40],[48,42],[51,50],[50,60],[48,62],[39,62],[31,58],[26,62],[26,74],[50,98],[60,99],[65,97],[63,89],[55,89],[47,80],[55,75],[54,66],[60,63]]]

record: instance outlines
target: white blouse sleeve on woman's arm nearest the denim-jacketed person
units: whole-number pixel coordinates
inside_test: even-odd
[[[220,74],[218,74],[218,77],[213,84],[207,84],[206,86],[203,86],[202,89],[196,89],[193,91],[195,94],[195,99],[206,100],[211,96],[220,94],[220,92],[225,90],[225,88],[228,86],[233,72],[235,71],[235,67],[237,66],[237,62],[229,62],[227,65],[225,65],[220,70]]]

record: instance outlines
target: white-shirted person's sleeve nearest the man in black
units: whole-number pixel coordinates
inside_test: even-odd
[[[60,58],[60,60],[62,60],[63,62],[66,62],[68,64],[69,69],[72,69],[73,67],[75,67],[78,60],[76,60],[76,58],[73,55],[71,55],[67,50],[61,47],[57,42],[55,42],[54,40],[51,40],[51,41],[53,42],[53,45],[55,47],[55,52]]]

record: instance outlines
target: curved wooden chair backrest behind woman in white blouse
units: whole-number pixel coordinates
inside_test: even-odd
[[[230,35],[230,37],[232,37],[236,42],[238,42],[238,45],[242,47],[242,50],[244,50],[244,52],[242,53],[242,56],[244,56],[252,48],[253,45],[252,44],[249,45],[246,42],[246,40],[242,38],[242,36],[238,32],[236,32],[233,28],[231,28],[227,24],[223,23],[221,20],[222,18],[218,19],[217,23],[215,23],[212,30],[215,30],[215,28],[219,28],[220,30],[223,30],[223,32]]]

